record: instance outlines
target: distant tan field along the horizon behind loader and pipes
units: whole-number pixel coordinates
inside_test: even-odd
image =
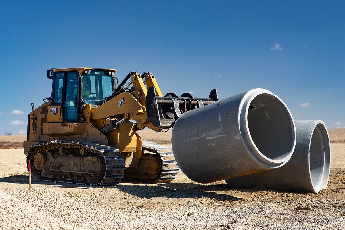
[[[162,144],[171,143],[171,130],[155,132],[150,129],[138,131],[142,140],[154,141]],[[345,129],[328,129],[331,143],[345,143]],[[0,148],[21,148],[26,135],[0,136]]]

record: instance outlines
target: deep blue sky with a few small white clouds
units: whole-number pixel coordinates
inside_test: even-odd
[[[345,127],[344,1],[3,1],[0,22],[0,135],[26,132],[47,66],[150,71],[199,97],[265,88],[294,119]]]

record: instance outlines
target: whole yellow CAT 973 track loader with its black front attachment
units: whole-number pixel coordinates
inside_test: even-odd
[[[23,143],[32,176],[43,181],[93,185],[121,179],[170,182],[178,165],[171,148],[141,140],[138,130],[169,129],[182,113],[218,101],[184,93],[163,97],[150,72],[130,72],[121,83],[115,69],[50,69],[51,97],[28,117]]]

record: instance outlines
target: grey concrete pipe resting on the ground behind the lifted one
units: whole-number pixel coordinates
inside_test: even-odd
[[[231,188],[269,188],[280,191],[317,193],[329,178],[331,149],[322,121],[295,120],[296,148],[283,167],[225,180]]]

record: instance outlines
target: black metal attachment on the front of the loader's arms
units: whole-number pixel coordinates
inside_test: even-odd
[[[157,128],[171,128],[182,113],[206,106],[218,101],[217,90],[213,89],[208,98],[195,98],[189,93],[178,97],[175,93],[167,93],[165,97],[157,97],[155,87],[148,89],[146,95],[146,112],[150,122]]]

